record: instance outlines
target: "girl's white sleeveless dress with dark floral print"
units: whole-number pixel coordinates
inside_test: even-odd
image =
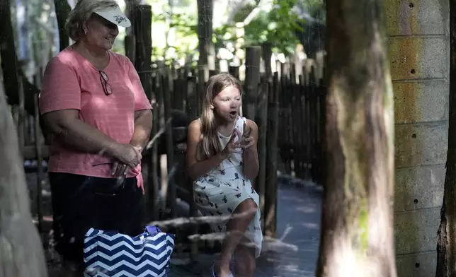
[[[242,134],[245,117],[237,117],[235,128]],[[227,145],[229,136],[218,134],[222,148]],[[237,141],[239,138],[234,139]],[[261,232],[259,196],[253,189],[249,179],[244,177],[242,170],[242,154],[232,153],[231,158],[225,159],[219,167],[193,183],[194,201],[203,216],[224,216],[229,218],[234,209],[244,200],[255,201],[256,215],[249,223],[244,238],[255,245],[255,256],[261,253],[263,233]],[[211,223],[212,232],[225,232],[227,220],[222,223]]]

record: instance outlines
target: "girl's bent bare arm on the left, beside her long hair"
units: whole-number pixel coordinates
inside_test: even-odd
[[[199,177],[207,174],[213,170],[217,165],[220,165],[227,155],[218,153],[207,160],[198,161],[196,159],[196,151],[198,143],[201,139],[201,126],[200,122],[193,120],[188,126],[187,134],[187,174],[192,180],[198,179]]]

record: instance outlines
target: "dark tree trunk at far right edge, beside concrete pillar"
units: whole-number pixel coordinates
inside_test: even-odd
[[[456,88],[456,3],[450,1],[450,91]],[[456,276],[456,95],[449,96],[447,172],[440,210],[435,277]]]

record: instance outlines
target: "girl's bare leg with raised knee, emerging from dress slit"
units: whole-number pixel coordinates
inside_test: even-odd
[[[232,257],[234,249],[238,246],[244,232],[249,226],[250,221],[256,213],[255,201],[246,199],[241,202],[233,211],[232,218],[227,223],[227,236],[222,243],[222,252],[220,253],[220,264],[217,269],[219,277],[229,276],[229,260]]]

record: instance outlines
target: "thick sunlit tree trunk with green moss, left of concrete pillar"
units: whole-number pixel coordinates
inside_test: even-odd
[[[317,277],[396,277],[394,113],[382,1],[327,0],[326,184]]]

